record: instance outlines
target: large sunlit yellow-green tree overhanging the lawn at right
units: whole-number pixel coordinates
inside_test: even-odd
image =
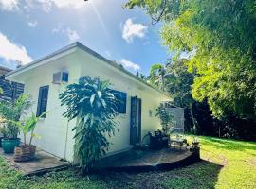
[[[207,100],[217,118],[256,120],[256,9],[254,0],[130,0],[164,22],[170,50],[192,54],[192,97]]]

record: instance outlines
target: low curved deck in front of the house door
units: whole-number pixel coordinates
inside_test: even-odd
[[[129,150],[121,154],[104,158],[97,163],[95,170],[113,171],[150,171],[172,169],[188,165],[200,160],[199,150],[186,148],[164,148],[161,150]]]

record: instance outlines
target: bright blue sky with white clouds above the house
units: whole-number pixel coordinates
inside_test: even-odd
[[[79,41],[136,73],[165,62],[159,26],[126,0],[0,0],[0,65],[15,68]]]

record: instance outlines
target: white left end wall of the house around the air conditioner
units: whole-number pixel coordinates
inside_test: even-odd
[[[68,70],[69,83],[78,82],[81,76],[81,64],[77,63],[76,57],[75,53],[72,53],[22,74],[26,75],[25,93],[32,96],[33,112],[37,111],[39,87],[49,85],[47,114],[46,118],[41,119],[37,124],[35,133],[40,135],[40,139],[35,139],[34,145],[70,162],[73,160],[74,145],[71,129],[75,121],[68,124],[67,119],[64,118],[64,107],[61,107],[59,100],[59,94],[64,91],[64,86],[53,84],[52,75],[60,70]]]

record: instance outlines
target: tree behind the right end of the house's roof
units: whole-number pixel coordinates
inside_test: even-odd
[[[192,129],[195,131],[198,122],[193,112],[193,107],[196,103],[192,99],[194,74],[188,72],[187,61],[185,59],[177,59],[171,60],[166,65],[154,64],[150,71],[150,81],[155,87],[168,92],[172,96],[175,106],[189,110]],[[191,127],[187,126],[187,128]]]

